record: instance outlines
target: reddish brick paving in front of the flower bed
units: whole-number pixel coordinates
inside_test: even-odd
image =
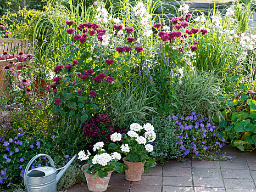
[[[186,163],[171,160],[143,173],[138,182],[125,180],[124,174],[112,174],[107,192],[256,192],[256,151],[242,153],[226,146],[221,153],[235,156],[232,161]],[[87,192],[86,184],[77,184],[68,192]]]

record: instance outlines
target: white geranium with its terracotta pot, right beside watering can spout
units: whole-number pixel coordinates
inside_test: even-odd
[[[98,142],[93,145],[93,151],[96,151],[96,155],[90,157],[90,152],[87,150],[80,151],[78,159],[81,161],[87,160],[87,163],[82,166],[82,171],[85,172],[85,177],[88,185],[88,189],[93,192],[101,192],[107,190],[110,176],[113,171],[122,173],[127,170],[127,166],[118,162],[121,159],[121,155],[117,152],[108,154],[103,149],[104,143]]]

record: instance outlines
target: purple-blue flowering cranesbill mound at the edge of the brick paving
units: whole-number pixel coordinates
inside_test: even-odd
[[[225,145],[225,139],[220,138],[221,132],[216,131],[208,118],[195,112],[188,116],[173,115],[172,121],[179,138],[176,144],[182,150],[177,159],[213,160],[216,152]]]

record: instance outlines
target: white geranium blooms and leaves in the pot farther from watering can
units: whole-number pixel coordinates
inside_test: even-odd
[[[150,123],[143,127],[138,123],[132,123],[127,134],[113,133],[110,136],[110,139],[116,143],[110,143],[108,149],[125,154],[126,161],[147,162],[148,166],[153,167],[155,153],[152,142],[156,137],[154,127]]]

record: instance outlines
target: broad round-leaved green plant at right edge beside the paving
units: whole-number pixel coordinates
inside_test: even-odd
[[[252,150],[256,146],[256,101],[254,86],[240,84],[237,95],[227,100],[226,121],[220,123],[227,142],[236,146],[241,151]],[[225,129],[224,129],[225,128]]]

